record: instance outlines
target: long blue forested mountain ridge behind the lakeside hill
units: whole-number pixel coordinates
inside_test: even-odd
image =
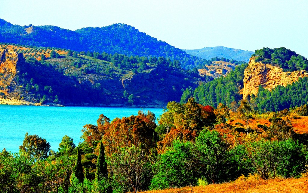
[[[0,19],[0,42],[71,49],[78,52],[106,52],[127,56],[163,56],[179,60],[182,68],[210,64],[205,59],[187,54],[179,48],[157,40],[126,24],[87,27],[71,31],[57,26],[19,26]]]

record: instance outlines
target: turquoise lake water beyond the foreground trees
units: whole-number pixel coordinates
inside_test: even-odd
[[[137,115],[140,108],[122,107],[54,107],[54,106],[18,106],[0,105],[0,151],[18,152],[19,145],[29,135],[38,135],[50,143],[51,149],[58,151],[59,143],[64,135],[74,139],[78,145],[83,125],[96,125],[100,114],[110,120],[116,117]],[[162,114],[162,109],[146,108],[152,111],[156,118]]]

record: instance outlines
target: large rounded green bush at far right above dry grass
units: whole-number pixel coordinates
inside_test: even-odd
[[[303,146],[292,139],[286,141],[260,140],[246,144],[247,152],[257,174],[262,179],[298,177],[306,171]]]

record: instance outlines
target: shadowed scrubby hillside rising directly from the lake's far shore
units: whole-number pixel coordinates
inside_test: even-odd
[[[0,49],[0,98],[6,99],[2,103],[163,107],[179,101],[186,87],[210,80],[164,57],[7,44]]]

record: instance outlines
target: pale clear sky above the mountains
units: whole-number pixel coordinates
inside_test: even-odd
[[[181,49],[286,47],[308,57],[307,0],[0,2],[0,18],[21,26],[76,30],[125,23]]]

